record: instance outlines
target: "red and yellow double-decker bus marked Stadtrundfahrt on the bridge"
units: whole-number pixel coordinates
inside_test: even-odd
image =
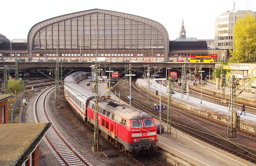
[[[218,55],[216,53],[191,53],[189,62],[217,62]]]

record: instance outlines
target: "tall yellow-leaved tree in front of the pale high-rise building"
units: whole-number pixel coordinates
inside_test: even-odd
[[[229,50],[230,63],[249,63],[256,57],[255,14],[246,13],[234,25],[234,50]]]

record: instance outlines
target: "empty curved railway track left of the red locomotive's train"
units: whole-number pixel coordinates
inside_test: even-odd
[[[36,99],[33,114],[35,122],[52,122],[46,110],[46,98],[55,87],[50,87],[44,90]],[[54,125],[47,131],[44,141],[56,156],[60,164],[72,165],[87,165],[92,166],[60,133],[58,128]]]

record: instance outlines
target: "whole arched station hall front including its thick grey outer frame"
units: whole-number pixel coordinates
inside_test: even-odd
[[[95,56],[96,50],[99,56],[110,58],[149,57],[152,48],[156,58],[167,56],[169,37],[166,29],[153,20],[92,9],[48,19],[33,26],[28,35],[30,57],[55,56],[56,43],[59,44],[60,56],[69,58],[89,58]]]

